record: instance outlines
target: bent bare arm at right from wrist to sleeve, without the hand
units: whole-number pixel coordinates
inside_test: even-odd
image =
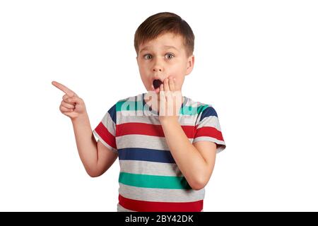
[[[216,144],[209,141],[190,143],[177,118],[161,121],[165,140],[180,171],[192,189],[203,189],[216,161]]]

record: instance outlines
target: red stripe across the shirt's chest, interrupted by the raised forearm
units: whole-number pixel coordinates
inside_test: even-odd
[[[194,138],[195,126],[181,126],[188,138]],[[123,123],[116,126],[116,135],[124,136],[129,134],[141,134],[148,136],[165,137],[161,125],[152,125],[146,123]]]

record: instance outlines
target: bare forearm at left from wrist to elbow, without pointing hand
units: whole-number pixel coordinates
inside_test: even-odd
[[[95,141],[88,114],[72,119],[78,154],[90,177],[103,174],[117,159],[117,154]]]

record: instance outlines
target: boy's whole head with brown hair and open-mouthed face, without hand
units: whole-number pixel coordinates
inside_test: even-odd
[[[134,46],[146,90],[169,76],[175,78],[176,90],[181,90],[184,76],[194,66],[194,33],[186,21],[175,13],[150,16],[136,30]]]

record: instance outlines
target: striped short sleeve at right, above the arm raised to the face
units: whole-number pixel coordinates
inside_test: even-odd
[[[218,114],[210,105],[206,105],[201,115],[199,114],[193,143],[198,141],[211,141],[216,143],[216,153],[220,153],[226,147],[218,121]]]

